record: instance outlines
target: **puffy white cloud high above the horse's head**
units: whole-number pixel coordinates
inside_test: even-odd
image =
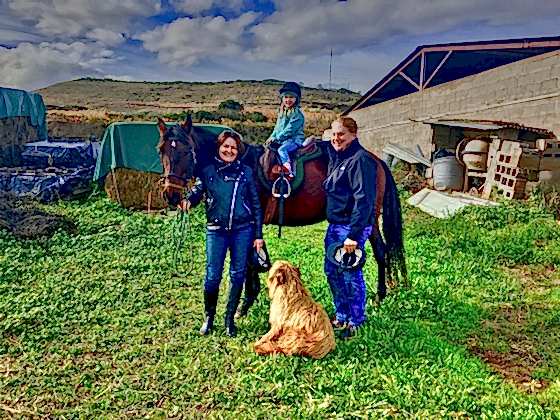
[[[258,17],[249,12],[226,20],[222,16],[180,18],[137,36],[161,62],[192,66],[204,59],[237,57],[245,53],[247,28]]]

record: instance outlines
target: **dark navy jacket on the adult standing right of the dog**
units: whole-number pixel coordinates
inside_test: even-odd
[[[342,152],[336,152],[331,145],[328,150],[329,166],[323,182],[327,193],[327,220],[350,225],[348,238],[355,241],[367,226],[377,222],[374,208],[377,163],[358,139]]]

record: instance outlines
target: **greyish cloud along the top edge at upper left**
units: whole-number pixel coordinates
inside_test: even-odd
[[[8,11],[44,35],[76,37],[96,28],[125,32],[135,18],[161,10],[160,0],[6,0]]]

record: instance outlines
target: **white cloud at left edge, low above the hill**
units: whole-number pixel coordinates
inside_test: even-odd
[[[98,76],[102,66],[117,60],[113,51],[83,42],[21,43],[0,47],[0,85],[37,89],[83,76]]]

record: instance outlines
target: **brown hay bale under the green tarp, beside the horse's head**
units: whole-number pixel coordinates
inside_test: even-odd
[[[105,178],[105,191],[109,198],[121,206],[133,209],[147,209],[151,193],[150,208],[160,210],[167,207],[163,200],[159,174],[141,172],[134,169],[117,168]]]

